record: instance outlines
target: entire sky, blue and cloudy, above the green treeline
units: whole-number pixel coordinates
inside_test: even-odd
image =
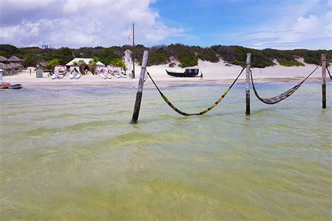
[[[0,0],[0,43],[332,48],[332,0]]]

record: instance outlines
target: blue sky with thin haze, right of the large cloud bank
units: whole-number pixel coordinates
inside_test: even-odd
[[[274,48],[331,48],[331,1],[158,0],[152,7],[165,24],[186,30],[184,36],[170,37],[166,43],[264,48],[256,44],[268,40],[266,46]],[[298,27],[299,18],[309,26],[310,22],[314,23],[308,20],[310,15],[314,16],[312,20],[319,18],[322,24],[306,29]],[[319,28],[327,32],[310,33]],[[287,35],[289,41],[286,41]],[[296,41],[291,35],[300,35],[300,38]],[[277,41],[280,36],[285,41]]]

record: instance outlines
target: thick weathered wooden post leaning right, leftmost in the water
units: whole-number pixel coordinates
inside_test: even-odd
[[[137,119],[139,116],[139,109],[141,108],[141,96],[143,95],[144,77],[145,77],[147,63],[148,63],[148,51],[144,51],[143,61],[141,62],[141,74],[139,75],[139,85],[134,105],[134,113],[132,114],[132,121],[130,121],[130,123],[137,123]]]

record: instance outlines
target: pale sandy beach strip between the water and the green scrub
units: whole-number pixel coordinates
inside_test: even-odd
[[[168,65],[153,65],[147,67],[148,72],[153,76],[153,79],[160,86],[173,86],[182,84],[196,84],[196,83],[229,83],[232,82],[237,74],[240,73],[242,67],[237,65],[226,66],[223,61],[212,63],[199,60],[198,67],[200,72],[203,73],[203,79],[196,78],[175,78],[168,76],[165,69],[175,72],[184,72],[181,67],[168,67]],[[275,81],[299,81],[305,76],[310,74],[317,66],[305,64],[305,67],[283,67],[281,65],[275,65],[273,67],[265,68],[253,68],[252,74],[256,82],[275,82]],[[36,72],[29,71],[20,72],[13,76],[4,76],[5,81],[11,83],[22,83],[25,88],[39,87],[59,87],[59,86],[98,86],[98,85],[110,85],[110,86],[137,86],[139,73],[141,67],[137,65],[135,67],[136,79],[118,79],[113,77],[112,79],[102,79],[99,76],[88,74],[83,75],[80,79],[69,79],[69,76],[65,76],[63,79],[52,79],[47,77],[48,73],[44,73],[43,78],[36,78]],[[245,79],[245,72],[240,76],[239,81],[243,82]],[[308,79],[308,81],[319,81],[321,79],[321,68],[319,67],[314,74]],[[328,79],[328,78],[327,78]],[[329,81],[329,79],[328,79]],[[147,80],[144,84],[146,87],[153,86],[152,82]]]

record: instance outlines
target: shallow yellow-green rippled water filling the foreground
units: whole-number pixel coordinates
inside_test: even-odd
[[[263,83],[263,97],[294,83]],[[228,85],[163,88],[198,112]],[[0,220],[329,220],[332,84],[265,105],[235,85],[204,116],[144,89],[0,91]]]

